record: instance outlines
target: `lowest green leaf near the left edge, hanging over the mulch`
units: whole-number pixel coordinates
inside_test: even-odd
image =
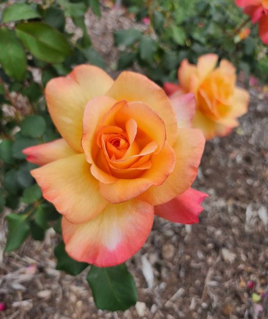
[[[9,214],[6,219],[8,221],[8,238],[5,252],[18,249],[30,231],[30,224],[25,214]]]

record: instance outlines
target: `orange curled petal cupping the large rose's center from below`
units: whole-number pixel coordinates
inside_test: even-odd
[[[151,161],[151,168],[139,178],[118,179],[113,184],[100,183],[102,196],[109,202],[118,204],[139,196],[151,185],[161,185],[173,171],[175,163],[173,149],[166,143],[159,154],[151,156]]]

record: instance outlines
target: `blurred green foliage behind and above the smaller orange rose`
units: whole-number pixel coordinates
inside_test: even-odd
[[[238,72],[243,70],[246,80],[253,74],[267,82],[267,47],[258,37],[257,25],[233,0],[125,0],[124,4],[138,21],[149,25],[143,34],[133,29],[115,32],[115,44],[121,50],[119,69],[137,62],[162,84],[177,79],[183,59],[196,63],[200,55],[216,53],[231,61]],[[239,32],[245,27],[251,33],[240,40]]]

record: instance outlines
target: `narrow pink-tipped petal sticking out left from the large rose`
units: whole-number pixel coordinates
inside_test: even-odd
[[[27,155],[27,161],[37,165],[48,164],[77,154],[63,139],[27,147],[22,153]]]

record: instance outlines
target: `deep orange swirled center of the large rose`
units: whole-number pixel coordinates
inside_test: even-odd
[[[156,140],[156,127],[150,125],[150,115],[160,125],[162,137],[156,136]],[[158,154],[164,143],[165,126],[154,111],[144,103],[120,101],[101,120],[92,154],[95,164],[111,176],[136,178],[152,166],[152,154]]]

